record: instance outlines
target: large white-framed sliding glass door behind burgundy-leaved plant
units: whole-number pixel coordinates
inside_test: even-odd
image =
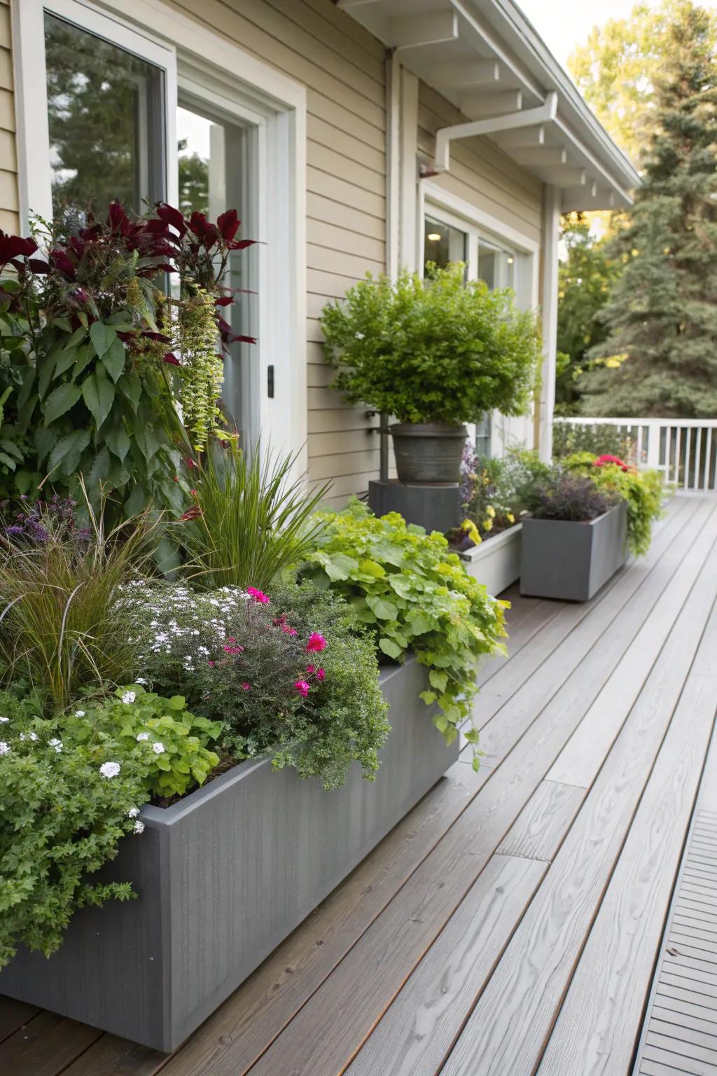
[[[305,467],[305,88],[181,12],[140,0],[21,0],[14,11],[20,216],[113,198],[235,207],[225,405]],[[43,48],[44,46],[44,48]],[[272,367],[269,392],[269,368]]]

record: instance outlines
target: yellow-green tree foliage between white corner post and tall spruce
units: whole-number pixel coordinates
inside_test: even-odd
[[[556,414],[579,414],[580,377],[590,363],[587,353],[602,343],[605,325],[596,315],[607,301],[618,265],[607,256],[607,241],[597,239],[584,213],[563,218],[567,257],[558,268],[558,371]]]

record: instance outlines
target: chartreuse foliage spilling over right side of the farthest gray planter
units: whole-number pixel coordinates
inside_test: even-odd
[[[577,452],[561,459],[568,470],[585,475],[611,499],[621,499],[628,511],[628,546],[635,556],[647,552],[653,538],[653,523],[662,514],[664,482],[657,470],[625,470],[617,464],[596,466],[598,457]]]

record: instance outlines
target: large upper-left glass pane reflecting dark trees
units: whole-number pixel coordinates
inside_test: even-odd
[[[164,198],[164,72],[45,13],[53,213]]]

